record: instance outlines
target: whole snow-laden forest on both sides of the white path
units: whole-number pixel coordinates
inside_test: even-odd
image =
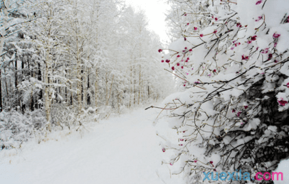
[[[242,171],[256,177],[237,183],[273,183],[289,158],[289,2],[165,2],[169,44],[124,1],[1,1],[2,151],[159,110],[170,178],[232,183],[218,173]]]

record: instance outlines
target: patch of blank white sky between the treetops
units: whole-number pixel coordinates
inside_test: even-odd
[[[159,35],[162,43],[169,40],[166,33],[164,13],[169,6],[164,0],[125,0],[127,4],[132,5],[136,10],[142,9],[146,13],[149,21],[149,28]]]

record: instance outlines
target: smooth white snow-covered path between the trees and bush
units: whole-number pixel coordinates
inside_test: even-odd
[[[181,184],[180,176],[162,165],[165,154],[152,124],[158,113],[137,109],[95,123],[83,134],[57,132],[41,144],[23,144],[18,153],[1,151],[0,183]]]

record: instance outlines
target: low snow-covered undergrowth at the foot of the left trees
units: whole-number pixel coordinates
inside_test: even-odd
[[[101,114],[95,114],[91,107],[83,109],[78,114],[77,108],[68,108],[64,105],[53,104],[52,108],[52,131],[71,132],[78,131],[80,134],[86,131],[91,122],[100,119]],[[48,134],[46,114],[43,109],[36,109],[33,112],[26,111],[24,114],[12,110],[11,112],[0,113],[0,150],[21,148],[26,141],[41,143],[46,141]]]

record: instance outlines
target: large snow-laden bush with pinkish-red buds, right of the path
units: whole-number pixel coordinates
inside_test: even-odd
[[[164,143],[175,152],[167,163],[189,183],[203,172],[273,171],[289,156],[289,1],[169,2],[181,38],[162,63],[183,92],[165,100],[179,135]]]

